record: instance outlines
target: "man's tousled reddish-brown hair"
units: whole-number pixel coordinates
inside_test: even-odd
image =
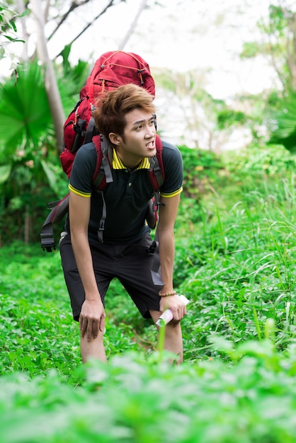
[[[102,94],[93,111],[96,127],[109,142],[110,132],[123,137],[126,125],[125,114],[134,109],[154,114],[153,100],[154,96],[135,84],[119,86],[113,91]]]

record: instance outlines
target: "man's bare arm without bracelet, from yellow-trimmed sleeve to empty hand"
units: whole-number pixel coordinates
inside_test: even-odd
[[[96,277],[93,271],[93,260],[89,248],[89,217],[91,212],[91,198],[81,197],[70,191],[69,223],[72,247],[84,286],[85,301],[81,307],[79,325],[81,337],[86,333],[87,340],[98,336],[98,329],[105,327],[105,310],[98,292]]]

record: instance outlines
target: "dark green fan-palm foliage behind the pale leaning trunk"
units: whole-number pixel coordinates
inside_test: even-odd
[[[67,112],[79,99],[87,71],[86,62],[79,62],[71,72],[67,66],[64,71],[57,67]],[[16,84],[8,80],[0,91],[0,214],[6,219],[5,224],[0,223],[0,238],[6,241],[38,241],[47,202],[67,194],[67,177],[59,163],[44,81],[42,67],[30,62],[20,71]],[[13,226],[10,233],[7,226]]]

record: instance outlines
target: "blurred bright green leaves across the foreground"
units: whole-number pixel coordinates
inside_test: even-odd
[[[127,354],[89,362],[76,389],[55,372],[4,376],[1,435],[7,443],[292,443],[294,347],[278,355],[268,339],[239,347],[212,341],[232,356],[228,367],[212,359],[176,368],[157,355]]]

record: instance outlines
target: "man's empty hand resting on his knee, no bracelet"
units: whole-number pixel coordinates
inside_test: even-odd
[[[101,300],[85,300],[81,306],[79,328],[81,338],[86,334],[87,341],[98,337],[98,331],[105,328],[105,309]]]

